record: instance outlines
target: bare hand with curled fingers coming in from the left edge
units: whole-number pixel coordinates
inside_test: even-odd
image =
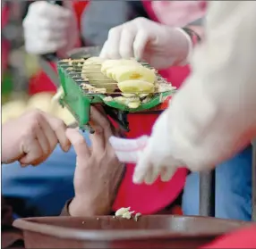
[[[44,162],[59,143],[67,152],[70,142],[65,136],[63,120],[48,113],[33,110],[2,126],[2,162],[21,162],[21,166],[36,166]]]

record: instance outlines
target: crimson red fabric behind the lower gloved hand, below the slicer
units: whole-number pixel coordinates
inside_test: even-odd
[[[157,118],[157,113],[130,113],[128,121],[131,131],[127,134],[127,137],[139,137],[143,134],[149,135]],[[133,164],[126,166],[124,180],[113,206],[114,211],[121,207],[131,207],[132,211],[141,212],[142,214],[150,214],[162,210],[170,203],[173,203],[181,193],[187,174],[186,169],[180,169],[177,170],[174,178],[169,182],[162,182],[158,179],[153,185],[147,186],[134,185],[132,183],[133,170]]]

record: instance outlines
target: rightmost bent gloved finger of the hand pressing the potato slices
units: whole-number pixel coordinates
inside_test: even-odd
[[[143,29],[139,30],[133,42],[133,51],[136,59],[143,59],[144,50],[149,40],[148,32]]]

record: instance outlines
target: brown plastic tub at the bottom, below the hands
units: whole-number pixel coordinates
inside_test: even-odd
[[[26,248],[196,248],[250,222],[150,215],[138,221],[112,216],[15,220]]]

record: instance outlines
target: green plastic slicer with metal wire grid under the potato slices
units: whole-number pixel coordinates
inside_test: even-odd
[[[60,104],[65,106],[77,120],[81,129],[90,128],[90,105],[101,104],[107,114],[114,119],[121,128],[129,130],[126,114],[129,112],[148,112],[156,110],[158,106],[165,102],[166,98],[173,95],[175,87],[172,87],[160,75],[157,75],[155,91],[141,96],[141,104],[137,108],[130,108],[127,104],[118,101],[117,96],[122,92],[116,86],[113,79],[102,79],[101,71],[95,72],[95,79],[89,80],[86,71],[83,71],[83,63],[86,59],[64,59],[57,63],[58,74],[64,95],[60,99]],[[141,62],[143,66],[149,67],[146,62]],[[91,73],[91,72],[90,72]],[[98,77],[100,75],[100,77]],[[98,85],[103,86],[98,88]],[[111,86],[111,87],[107,87]],[[113,87],[116,86],[116,87]],[[136,94],[136,93],[132,93]]]

